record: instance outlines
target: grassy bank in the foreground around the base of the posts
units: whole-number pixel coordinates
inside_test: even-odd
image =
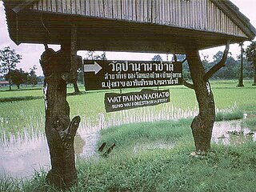
[[[98,145],[116,147],[108,158],[78,159],[78,183],[68,191],[254,191],[255,143],[213,145],[209,154],[195,158],[189,126],[190,119],[182,119],[102,130]],[[0,190],[58,191],[45,176],[40,172],[24,182],[4,178]]]

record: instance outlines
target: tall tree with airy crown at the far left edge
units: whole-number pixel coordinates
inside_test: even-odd
[[[10,46],[4,47],[2,50],[0,50],[0,73],[3,75],[9,74],[10,70],[14,70],[21,59],[22,55],[16,54],[15,50],[10,49]],[[10,76],[9,79],[11,79]],[[9,82],[9,84],[11,90],[11,82]]]

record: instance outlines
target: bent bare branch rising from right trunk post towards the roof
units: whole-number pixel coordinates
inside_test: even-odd
[[[208,70],[207,73],[203,76],[203,80],[205,82],[207,82],[209,80],[209,78],[211,76],[213,76],[213,74],[215,74],[218,70],[220,70],[223,66],[225,66],[225,62],[226,62],[227,54],[229,53],[229,49],[230,49],[230,40],[228,42],[226,42],[226,48],[224,50],[222,60],[220,62],[218,62],[215,66],[210,68],[210,70]]]

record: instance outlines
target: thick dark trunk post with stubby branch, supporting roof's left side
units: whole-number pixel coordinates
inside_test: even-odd
[[[41,56],[45,75],[46,138],[50,149],[51,170],[46,176],[50,184],[65,189],[77,180],[74,161],[74,136],[80,117],[70,122],[70,107],[66,102],[66,80],[63,74],[69,73],[70,52],[54,52],[46,49]],[[64,65],[63,65],[64,64]]]

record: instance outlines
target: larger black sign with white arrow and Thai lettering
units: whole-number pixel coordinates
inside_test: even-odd
[[[182,85],[182,62],[84,60],[86,90]]]

